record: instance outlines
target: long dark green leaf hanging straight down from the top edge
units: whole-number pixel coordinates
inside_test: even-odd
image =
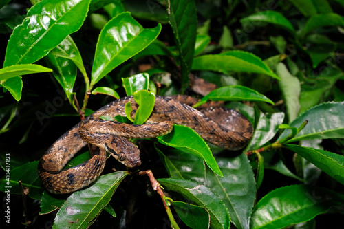
[[[175,43],[178,47],[181,72],[182,91],[189,87],[189,72],[195,51],[197,12],[194,0],[169,0],[167,14],[171,24]]]

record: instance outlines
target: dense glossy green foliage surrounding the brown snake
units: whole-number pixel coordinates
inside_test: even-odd
[[[342,0],[1,1],[1,228],[341,228],[343,12]],[[190,73],[218,89],[195,94]],[[133,95],[141,124],[155,94],[227,101],[253,137],[224,151],[175,126],[133,140],[138,168],[109,157],[84,190],[43,188],[39,159],[80,117]]]

